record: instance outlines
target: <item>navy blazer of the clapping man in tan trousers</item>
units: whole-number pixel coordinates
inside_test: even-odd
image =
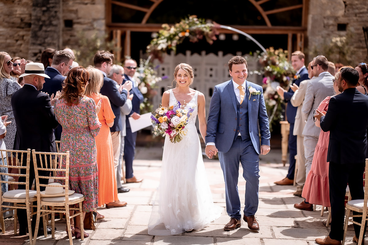
[[[128,95],[128,92],[125,89],[123,89],[123,91],[121,91],[120,94],[116,87],[116,84],[117,83],[114,80],[108,78],[105,74],[103,74],[103,85],[100,90],[100,93],[109,98],[111,109],[113,110],[115,115],[114,125],[110,127],[111,132],[123,130],[123,126],[121,125],[120,119],[120,107],[125,104]]]

